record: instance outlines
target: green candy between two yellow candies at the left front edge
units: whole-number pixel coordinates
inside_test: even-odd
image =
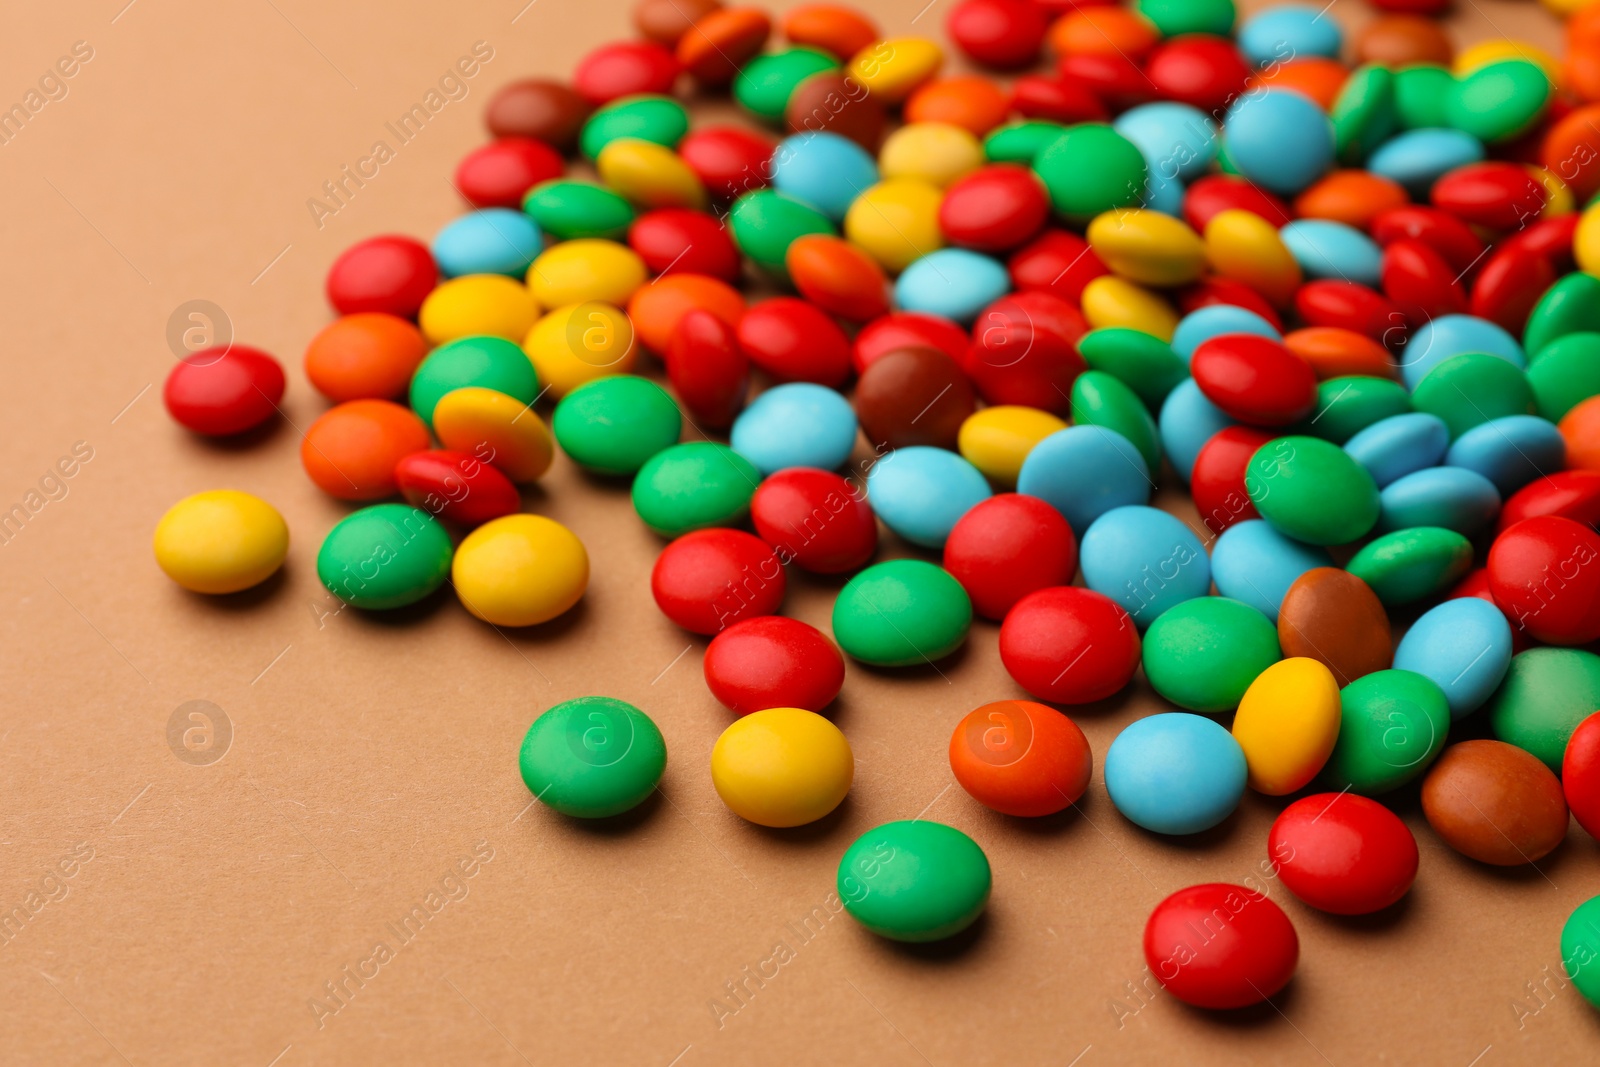
[[[410,504],[376,504],[339,520],[317,550],[317,577],[357,608],[416,603],[450,577],[450,534]]]

